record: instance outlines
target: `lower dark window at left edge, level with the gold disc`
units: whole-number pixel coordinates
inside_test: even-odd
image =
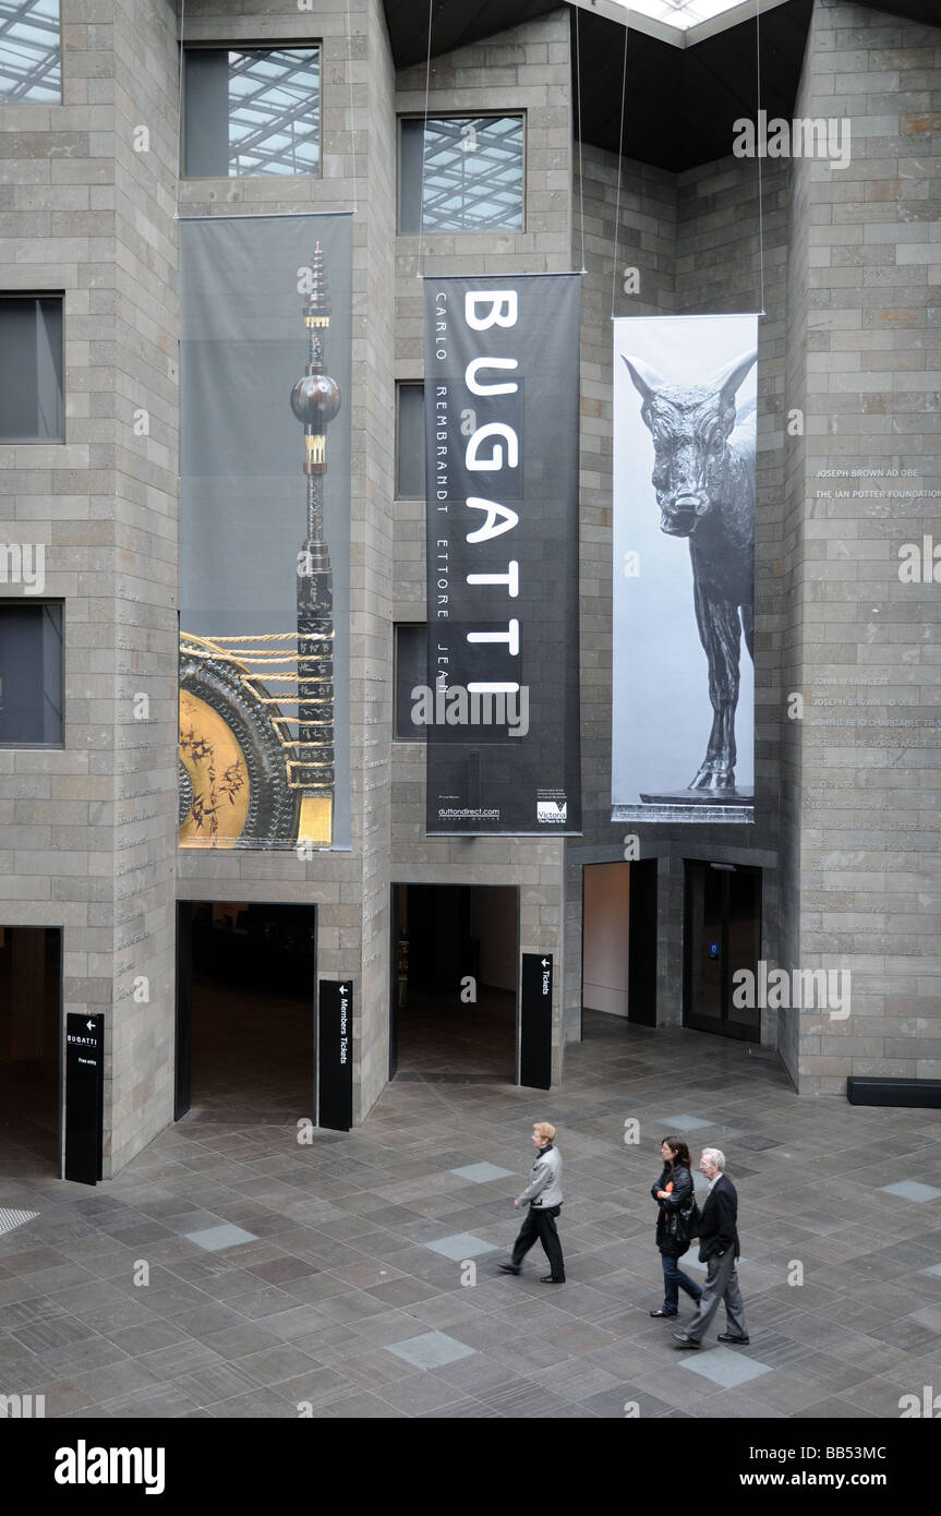
[[[3,579],[12,552],[0,546]],[[62,746],[61,605],[0,600],[0,746]]]

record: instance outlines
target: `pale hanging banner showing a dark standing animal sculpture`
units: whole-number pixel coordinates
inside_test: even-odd
[[[753,802],[758,317],[614,323],[612,820]]]

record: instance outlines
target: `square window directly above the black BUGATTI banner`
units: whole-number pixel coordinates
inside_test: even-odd
[[[521,115],[406,118],[400,164],[400,230],[523,230]]]

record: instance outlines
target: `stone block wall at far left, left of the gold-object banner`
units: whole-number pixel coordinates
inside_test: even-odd
[[[0,752],[0,917],[62,928],[65,1011],[105,1013],[109,1175],[171,1114],[176,20],[62,0],[62,105],[0,106],[0,288],[65,311],[65,441],[0,447],[0,537],[44,546],[65,631],[64,749]]]

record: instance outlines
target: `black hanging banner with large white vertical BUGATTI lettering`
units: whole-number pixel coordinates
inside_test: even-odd
[[[577,274],[424,280],[429,834],[580,831]]]

